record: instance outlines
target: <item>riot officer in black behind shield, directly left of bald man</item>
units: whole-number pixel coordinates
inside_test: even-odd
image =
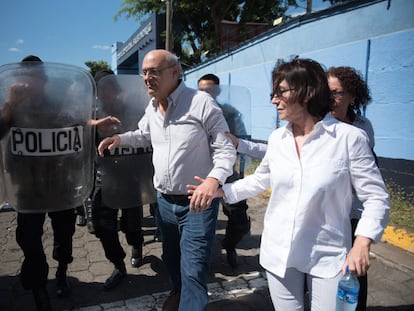
[[[140,117],[136,111],[139,105],[136,98],[128,98],[128,91],[122,91],[114,72],[100,70],[95,74],[95,81],[98,90],[97,117],[101,120],[108,117],[119,120],[116,126],[98,125],[97,141],[130,127],[136,128]],[[145,92],[143,94],[146,96]],[[142,202],[140,203],[139,183],[136,187],[134,184],[144,175],[145,169],[134,169],[138,163],[142,165],[142,162],[137,160],[133,150],[118,151],[96,160],[95,190],[92,198],[95,235],[102,243],[105,256],[114,265],[112,274],[104,283],[105,290],[115,288],[127,275],[124,263],[126,254],[118,236],[119,213],[119,227],[131,246],[131,266],[138,268],[143,264]],[[148,181],[151,182],[151,175],[148,175]]]

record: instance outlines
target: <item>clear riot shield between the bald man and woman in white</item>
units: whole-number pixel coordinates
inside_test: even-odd
[[[223,111],[230,133],[242,139],[251,139],[251,99],[250,91],[242,86],[217,86],[216,101]],[[244,177],[245,155],[238,154],[234,173],[229,182]]]

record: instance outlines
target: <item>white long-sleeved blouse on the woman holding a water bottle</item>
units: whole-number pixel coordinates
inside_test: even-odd
[[[223,190],[232,203],[269,187],[260,264],[280,277],[289,267],[323,278],[339,273],[351,247],[352,188],[364,205],[356,235],[378,241],[388,221],[389,196],[367,136],[330,114],[300,157],[291,124],[276,129],[255,173]]]

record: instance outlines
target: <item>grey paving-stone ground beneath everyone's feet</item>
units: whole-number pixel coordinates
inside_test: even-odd
[[[210,304],[208,311],[274,310],[263,269],[258,264],[260,236],[263,228],[265,197],[249,200],[252,219],[251,234],[239,245],[239,267],[232,271],[220,247],[226,217],[220,211],[217,237],[209,276]],[[23,260],[15,241],[16,214],[0,213],[0,310],[35,310],[31,292],[23,290],[18,274]],[[122,233],[126,250],[128,277],[113,291],[103,291],[103,282],[112,272],[100,242],[87,231],[77,227],[74,237],[74,262],[69,266],[71,294],[59,299],[55,295],[54,275],[57,264],[49,259],[48,290],[54,310],[161,310],[168,293],[168,280],[161,261],[161,243],[153,240],[155,225],[144,207],[144,262],[140,268],[129,265],[130,248]],[[45,225],[44,245],[52,258],[52,232]],[[414,256],[390,244],[372,247],[369,270],[369,311],[414,310]]]

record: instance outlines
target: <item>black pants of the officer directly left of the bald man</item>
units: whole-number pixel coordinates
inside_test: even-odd
[[[106,258],[115,266],[122,266],[126,256],[118,236],[118,209],[102,204],[98,193],[92,204],[92,222],[95,235],[102,243]],[[142,206],[121,209],[121,231],[128,245],[142,248]]]

